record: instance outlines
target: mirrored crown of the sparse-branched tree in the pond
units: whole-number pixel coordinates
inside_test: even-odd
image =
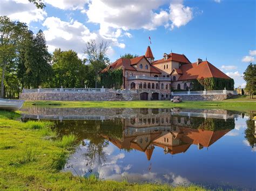
[[[109,146],[109,141],[103,140],[100,143],[88,142],[86,143],[87,151],[84,154],[86,160],[86,167],[92,168],[93,164],[102,165],[106,162],[106,153],[103,151],[104,147]]]

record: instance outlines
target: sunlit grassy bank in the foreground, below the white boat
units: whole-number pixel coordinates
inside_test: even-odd
[[[139,184],[82,178],[59,172],[73,151],[75,136],[56,138],[50,122],[17,120],[16,112],[0,111],[0,190],[194,190],[197,186]]]

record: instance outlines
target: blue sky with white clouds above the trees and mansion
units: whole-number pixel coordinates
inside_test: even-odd
[[[256,62],[254,0],[0,0],[0,15],[24,22],[45,34],[49,52],[73,49],[83,58],[86,42],[109,43],[115,61],[125,53],[155,60],[164,53],[185,54],[191,62],[211,62],[245,87],[242,73]],[[151,44],[149,43],[151,38]]]

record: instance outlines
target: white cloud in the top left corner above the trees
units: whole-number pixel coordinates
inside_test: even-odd
[[[6,15],[12,20],[30,24],[44,20],[47,13],[42,9],[37,9],[29,1],[5,0],[1,1],[0,15]]]

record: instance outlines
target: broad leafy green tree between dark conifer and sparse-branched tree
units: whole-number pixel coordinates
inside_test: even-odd
[[[83,88],[85,65],[78,58],[75,51],[61,51],[60,48],[53,52],[53,86],[65,88]]]

